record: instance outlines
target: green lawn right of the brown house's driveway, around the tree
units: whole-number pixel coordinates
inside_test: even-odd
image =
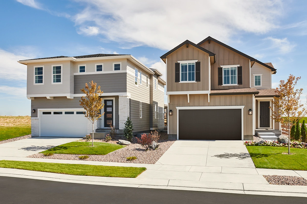
[[[307,149],[288,147],[247,146],[256,168],[307,170]]]

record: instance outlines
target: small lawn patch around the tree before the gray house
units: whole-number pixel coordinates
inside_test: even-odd
[[[124,145],[99,142],[94,142],[94,147],[91,145],[92,142],[71,142],[42,151],[41,153],[106,155],[125,147]]]

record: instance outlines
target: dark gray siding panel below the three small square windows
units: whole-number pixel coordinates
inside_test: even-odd
[[[101,87],[104,93],[126,92],[126,72],[111,73],[111,74],[86,74],[75,75],[74,77],[74,94],[82,94],[80,89],[85,87],[85,83],[90,83],[92,80]]]

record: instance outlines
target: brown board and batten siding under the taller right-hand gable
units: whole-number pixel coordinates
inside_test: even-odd
[[[228,48],[211,40],[204,42],[201,47],[216,54],[216,62],[211,65],[211,89],[249,88],[250,87],[250,60]],[[218,85],[218,67],[222,65],[242,66],[242,85],[221,86]]]

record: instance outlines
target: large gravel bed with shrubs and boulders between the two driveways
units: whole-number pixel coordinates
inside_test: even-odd
[[[161,135],[162,136],[162,135]],[[108,143],[117,144],[118,139],[114,138]],[[79,141],[85,141],[81,139]],[[94,139],[94,142],[105,142],[104,139]],[[175,142],[175,140],[162,140],[159,141],[159,147],[156,150],[145,150],[142,145],[137,143],[137,139],[133,138],[130,145],[126,147],[110,152],[107,155],[88,155],[89,158],[84,159],[84,161],[107,161],[107,162],[121,162],[121,163],[137,163],[137,164],[155,164],[158,159],[165,153],[166,150]],[[44,156],[41,153],[33,154],[28,156],[29,158],[48,158],[48,159],[66,159],[66,160],[80,160],[78,157],[81,154],[53,154],[52,156]],[[127,157],[137,157],[136,160],[127,161]]]

